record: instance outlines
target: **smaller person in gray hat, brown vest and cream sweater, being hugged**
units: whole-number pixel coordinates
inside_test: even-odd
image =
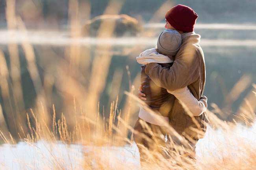
[[[157,86],[145,73],[145,65],[152,62],[161,64],[162,67],[170,68],[174,62],[173,56],[176,55],[181,44],[182,38],[180,33],[172,29],[167,29],[160,34],[157,48],[148,49],[136,58],[139,64],[143,64],[141,66],[141,92],[146,95],[147,100],[145,103],[156,113],[152,116],[146,110],[140,108],[139,119],[145,121],[153,132],[159,132],[161,129],[159,127],[163,126],[162,121],[166,121],[167,124],[169,124],[169,113],[173,109],[175,98],[185,104],[193,116],[199,116],[207,109],[207,98],[205,96],[202,96],[198,101],[187,87],[175,91],[168,91]],[[184,77],[184,79],[186,79],[186,77]],[[145,128],[139,124],[139,121],[136,122],[134,130],[144,133],[149,138],[151,137],[151,135],[145,131]],[[155,146],[150,146],[139,134],[134,135],[134,140],[138,145],[141,161],[143,161],[143,159],[146,158],[142,156],[141,145],[148,149],[151,147],[150,150],[155,149]]]

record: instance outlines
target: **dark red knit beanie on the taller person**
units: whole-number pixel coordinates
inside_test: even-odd
[[[165,15],[165,19],[171,26],[184,32],[194,31],[197,18],[197,13],[191,7],[180,4],[172,7]]]

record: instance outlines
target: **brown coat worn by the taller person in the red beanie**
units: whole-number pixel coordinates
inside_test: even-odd
[[[204,54],[198,44],[199,41],[199,35],[183,38],[171,68],[163,68],[157,63],[150,63],[147,64],[145,73],[155,84],[169,91],[188,86],[191,93],[199,100],[204,92],[206,79]],[[171,126],[180,135],[188,135],[193,139],[204,137],[208,122],[206,113],[191,118],[178,102],[178,99],[175,99],[169,119]]]

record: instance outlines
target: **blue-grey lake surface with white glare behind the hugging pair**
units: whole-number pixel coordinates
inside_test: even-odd
[[[113,75],[115,71],[121,71],[121,87],[118,94],[122,107],[125,101],[123,91],[129,90],[126,66],[129,66],[132,81],[135,80],[140,73],[140,65],[137,64],[135,57],[145,49],[155,46],[157,35],[163,31],[163,24],[148,24],[145,25],[145,29],[153,31],[154,34],[150,37],[99,39],[93,37],[70,38],[68,31],[0,30],[0,50],[4,51],[7,64],[9,64],[8,44],[19,44],[24,41],[32,43],[39,73],[43,79],[45,68],[52,66],[50,62],[45,60],[57,61],[59,58],[63,58],[67,46],[80,44],[82,48],[89,49],[91,58],[93,58],[96,46],[110,45],[111,64],[100,103],[105,106],[109,105],[111,90],[115,88],[111,84]],[[240,105],[244,103],[244,99],[254,90],[252,84],[256,83],[256,25],[198,24],[195,31],[202,36],[200,45],[206,61],[204,95],[208,97],[209,109],[212,109],[211,103],[217,104],[220,108],[228,108],[226,111],[229,115],[223,119],[232,120]],[[19,49],[23,93],[26,94],[24,102],[26,109],[29,109],[33,105],[35,91],[26,66],[24,52],[20,47]],[[46,49],[51,49],[58,57],[47,58],[43,56],[42,52]],[[53,63],[56,64],[56,62]],[[241,83],[241,88],[238,88],[237,91],[236,83],[239,81],[245,81],[245,83]],[[60,95],[56,96],[53,102],[57,103],[56,107],[61,110]],[[256,108],[254,103],[251,104],[253,109]]]

